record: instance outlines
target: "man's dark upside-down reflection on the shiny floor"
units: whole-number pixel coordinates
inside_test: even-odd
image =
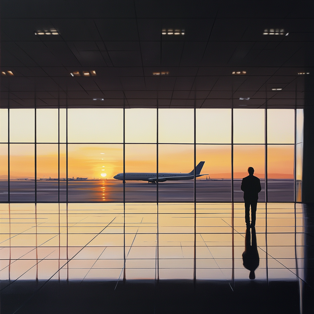
[[[245,251],[242,254],[243,266],[250,271],[249,278],[255,279],[255,269],[259,265],[259,255],[257,251],[256,231],[252,227],[252,245],[250,227],[246,228]]]

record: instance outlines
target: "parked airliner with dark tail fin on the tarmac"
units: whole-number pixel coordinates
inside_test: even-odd
[[[205,161],[201,161],[196,166],[196,177],[206,176],[207,174],[201,175],[201,170],[203,168]],[[148,181],[151,183],[157,182],[157,173],[149,173],[149,172],[126,172],[125,176],[123,177],[123,172],[118,173],[116,176],[113,177],[116,180],[133,180],[133,181]],[[177,180],[192,180],[194,179],[194,169],[189,173],[177,173],[177,172],[159,172],[158,173],[158,182],[165,182],[165,181],[177,181]]]

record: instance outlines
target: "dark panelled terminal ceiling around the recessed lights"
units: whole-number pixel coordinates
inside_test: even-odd
[[[60,3],[62,9],[58,12],[53,8],[44,12],[44,6],[32,5],[22,11],[22,2],[16,11],[8,12],[3,10],[9,7],[8,2],[3,3],[1,64],[16,75],[1,77],[1,96],[3,100],[8,97],[10,80],[12,97],[20,104],[31,103],[36,85],[37,90],[51,92],[37,93],[43,105],[53,104],[55,91],[67,87],[69,102],[82,106],[101,106],[93,102],[93,97],[105,97],[106,106],[120,106],[123,97],[129,98],[133,106],[145,106],[145,102],[155,106],[149,105],[155,104],[151,97],[158,97],[165,106],[193,106],[190,100],[194,99],[191,95],[195,89],[199,106],[229,106],[231,86],[236,93],[252,95],[250,98],[259,102],[265,98],[267,82],[268,87],[283,85],[280,92],[268,91],[272,99],[268,104],[290,106],[296,78],[300,101],[304,95],[304,77],[296,73],[304,71],[304,66],[307,71],[313,70],[313,60],[304,59],[306,53],[312,55],[306,50],[313,51],[311,10],[300,9],[302,2],[296,10],[289,6],[279,9],[272,3],[272,10],[278,10],[276,18],[266,22],[263,14],[269,15],[265,11],[267,5],[258,1],[254,7],[260,9],[255,10],[250,5],[239,8],[234,3],[218,10],[215,4],[199,1],[188,9],[162,1],[149,2],[149,8],[147,2],[141,1],[117,1],[114,5],[107,1],[90,2],[102,8],[101,16],[90,3],[84,14],[84,6],[76,6],[72,1],[67,1],[67,5]],[[160,10],[163,6],[167,9]],[[32,11],[35,7],[36,13]],[[7,19],[10,14],[19,19]],[[34,30],[45,23],[59,28],[61,36],[35,36]],[[265,23],[284,25],[290,35],[280,40],[263,37]],[[180,25],[187,29],[186,35],[161,36],[161,28],[166,25]],[[96,70],[97,77],[69,76],[71,71],[90,67]],[[245,76],[231,75],[241,68],[247,71]],[[167,77],[152,75],[168,70]],[[41,101],[37,103],[40,105]]]

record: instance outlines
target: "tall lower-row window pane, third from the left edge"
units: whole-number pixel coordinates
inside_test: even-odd
[[[58,144],[37,144],[37,201],[58,201]]]

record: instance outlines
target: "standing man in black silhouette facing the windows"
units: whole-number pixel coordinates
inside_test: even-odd
[[[245,204],[245,223],[246,227],[250,227],[250,205],[251,205],[251,226],[255,226],[256,208],[258,200],[258,192],[261,192],[261,182],[256,176],[253,176],[254,168],[248,167],[249,175],[242,179],[241,190],[244,192]]]

